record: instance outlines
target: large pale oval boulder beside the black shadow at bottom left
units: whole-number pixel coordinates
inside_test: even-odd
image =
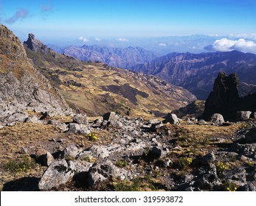
[[[66,184],[75,174],[75,165],[72,161],[56,160],[44,172],[39,181],[38,188],[48,191]]]

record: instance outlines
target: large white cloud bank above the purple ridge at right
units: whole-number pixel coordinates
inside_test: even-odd
[[[212,45],[204,47],[204,49],[210,51],[232,51],[238,50],[243,52],[256,53],[256,43],[251,40],[245,40],[240,38],[238,40],[229,40],[227,38],[222,38],[215,40]]]

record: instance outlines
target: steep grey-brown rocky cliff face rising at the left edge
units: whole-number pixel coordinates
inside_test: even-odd
[[[8,104],[17,105],[17,109],[21,104],[37,104],[45,109],[68,108],[58,90],[33,68],[21,41],[0,25],[0,110]]]

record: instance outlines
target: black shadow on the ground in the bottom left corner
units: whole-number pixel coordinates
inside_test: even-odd
[[[39,191],[37,177],[22,177],[4,184],[3,191]]]

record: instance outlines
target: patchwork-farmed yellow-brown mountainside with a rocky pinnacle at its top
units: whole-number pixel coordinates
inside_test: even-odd
[[[163,116],[196,99],[188,90],[158,77],[58,54],[35,40],[34,35],[29,35],[24,46],[27,56],[60,89],[70,107],[89,116],[101,116],[107,111]]]

